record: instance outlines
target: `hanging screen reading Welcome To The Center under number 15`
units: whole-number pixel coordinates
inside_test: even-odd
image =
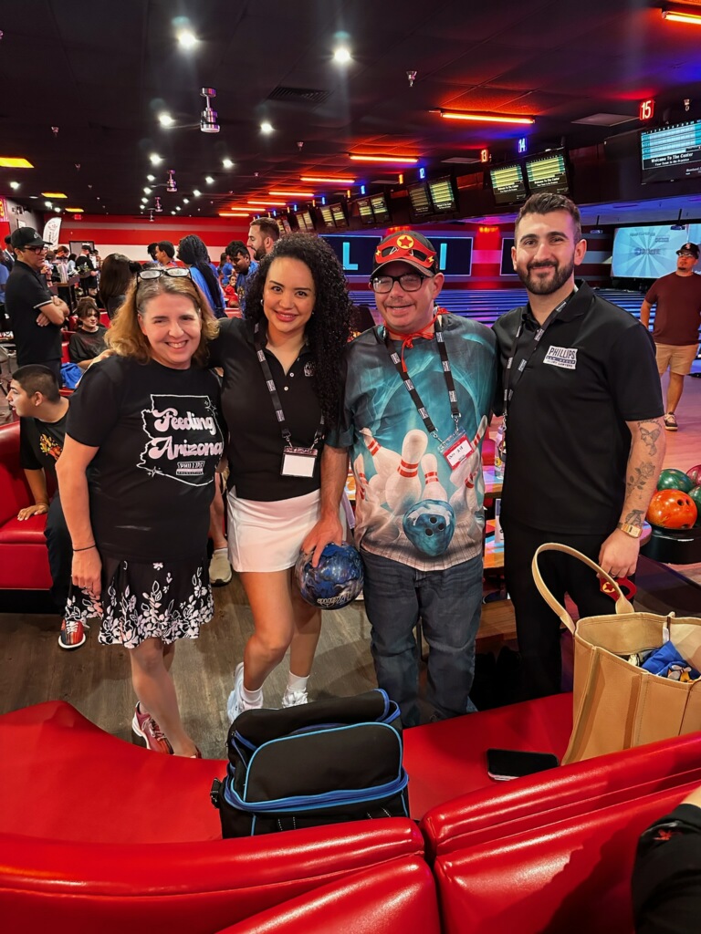
[[[701,177],[701,120],[643,130],[640,159],[643,184]]]

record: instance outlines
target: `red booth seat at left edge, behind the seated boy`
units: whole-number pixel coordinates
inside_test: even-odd
[[[0,426],[0,589],[48,590],[46,516],[22,522],[17,514],[34,500],[20,465],[20,423]]]

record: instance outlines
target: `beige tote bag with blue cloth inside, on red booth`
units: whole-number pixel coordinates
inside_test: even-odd
[[[538,555],[544,551],[578,558],[608,580],[618,595],[615,612],[587,616],[575,625],[538,571]],[[674,681],[626,660],[671,640],[701,672],[701,619],[637,613],[608,573],[567,545],[540,545],[532,567],[540,595],[575,640],[573,729],[563,765],[701,729],[701,678]]]

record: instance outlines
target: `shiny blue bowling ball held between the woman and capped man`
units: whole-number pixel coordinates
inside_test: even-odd
[[[300,593],[312,606],[339,610],[355,600],[363,589],[363,561],[352,545],[326,545],[319,566],[301,552],[294,565]]]

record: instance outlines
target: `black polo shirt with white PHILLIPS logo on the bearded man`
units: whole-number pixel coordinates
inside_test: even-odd
[[[538,328],[530,307],[496,321],[502,368],[522,320],[511,369],[502,517],[542,531],[606,535],[625,498],[631,445],[625,423],[664,413],[651,335],[585,283],[530,356]]]

